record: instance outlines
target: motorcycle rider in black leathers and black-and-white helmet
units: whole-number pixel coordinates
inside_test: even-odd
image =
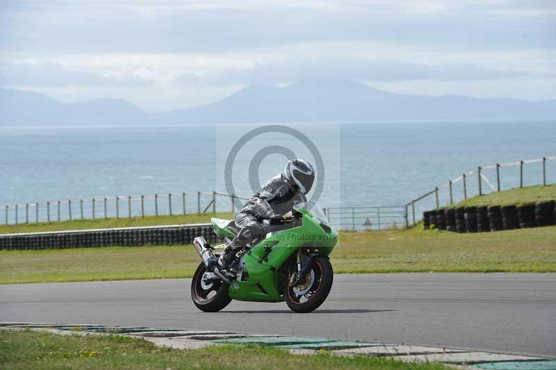
[[[315,181],[315,170],[303,159],[292,159],[286,163],[284,173],[272,177],[257,191],[236,214],[235,223],[240,229],[218,260],[220,268],[226,270],[234,261],[238,250],[252,247],[254,241],[267,234],[268,223],[264,220],[282,220],[293,205],[306,202]]]

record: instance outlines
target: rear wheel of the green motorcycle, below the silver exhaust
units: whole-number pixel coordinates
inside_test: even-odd
[[[206,273],[204,264],[199,264],[191,280],[191,299],[198,309],[204,312],[218,312],[231,302],[228,285],[220,280],[203,280]]]

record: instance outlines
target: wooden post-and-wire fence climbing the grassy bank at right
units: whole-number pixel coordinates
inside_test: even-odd
[[[416,225],[427,209],[455,204],[475,195],[547,184],[556,184],[556,156],[478,166],[407,203],[406,227],[410,222]]]

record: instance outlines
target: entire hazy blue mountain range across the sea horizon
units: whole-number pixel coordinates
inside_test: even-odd
[[[556,119],[556,100],[401,95],[345,81],[248,86],[212,104],[160,113],[145,113],[120,99],[63,104],[38,93],[0,89],[3,125],[548,119]]]

